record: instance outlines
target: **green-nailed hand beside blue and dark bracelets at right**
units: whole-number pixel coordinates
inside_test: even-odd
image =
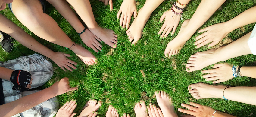
[[[201,76],[201,78],[205,78],[205,81],[216,80],[212,82],[216,84],[228,81],[229,79],[232,79],[234,77],[232,72],[232,66],[227,63],[214,64],[212,67],[215,69],[203,70],[201,72],[202,74],[209,73]]]

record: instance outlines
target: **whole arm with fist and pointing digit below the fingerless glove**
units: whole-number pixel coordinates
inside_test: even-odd
[[[78,89],[77,87],[70,88],[68,78],[63,78],[59,82],[54,83],[51,87],[42,91],[24,96],[16,101],[0,106],[0,116],[10,117],[17,113],[21,113],[36,105],[53,98],[57,95],[64,94],[68,91]]]

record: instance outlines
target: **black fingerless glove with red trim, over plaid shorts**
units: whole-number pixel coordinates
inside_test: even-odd
[[[27,71],[15,70],[10,78],[13,83],[12,90],[19,90],[20,92],[28,90],[27,85],[30,84],[31,74]]]

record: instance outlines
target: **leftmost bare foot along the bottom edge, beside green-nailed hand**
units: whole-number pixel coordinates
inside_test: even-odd
[[[83,107],[83,110],[79,115],[79,117],[87,117],[92,112],[97,111],[101,105],[102,105],[101,101],[99,101],[97,104],[97,100],[89,100],[88,102],[86,102],[85,106]]]

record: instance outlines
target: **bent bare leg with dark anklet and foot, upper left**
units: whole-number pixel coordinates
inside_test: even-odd
[[[52,17],[43,13],[38,0],[14,0],[12,9],[17,19],[31,32],[54,44],[70,48],[71,39],[61,30]],[[85,63],[92,65],[96,57],[83,47],[76,45],[70,48]]]

